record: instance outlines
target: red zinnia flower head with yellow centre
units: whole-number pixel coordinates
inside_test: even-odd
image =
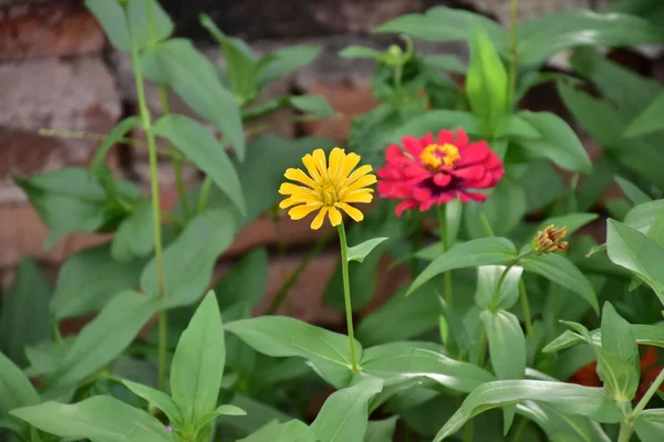
[[[505,169],[500,158],[486,141],[469,143],[457,129],[456,140],[450,130],[440,130],[438,140],[432,134],[424,138],[404,137],[400,146],[385,151],[385,167],[378,169],[378,192],[383,198],[403,200],[396,215],[404,210],[428,210],[455,198],[461,202],[485,201],[486,194],[468,189],[490,189],[498,183]]]

